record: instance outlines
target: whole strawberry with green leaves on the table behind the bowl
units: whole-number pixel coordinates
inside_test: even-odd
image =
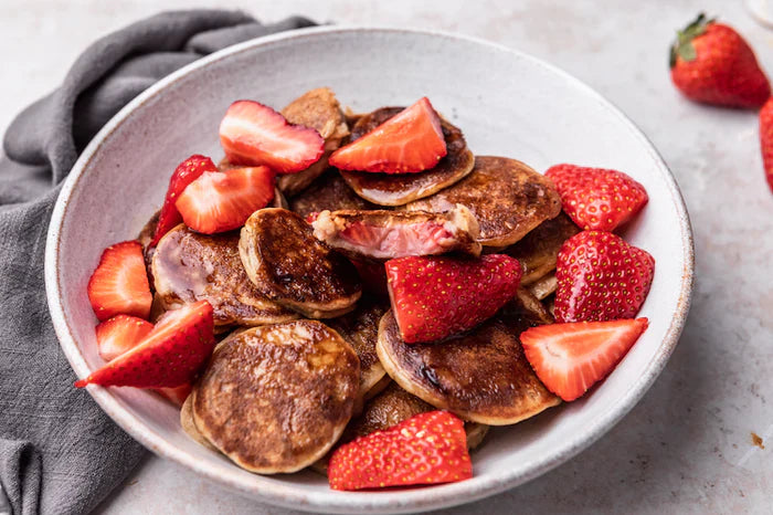
[[[671,81],[688,98],[756,108],[771,96],[754,52],[732,28],[701,13],[677,34],[670,51]]]

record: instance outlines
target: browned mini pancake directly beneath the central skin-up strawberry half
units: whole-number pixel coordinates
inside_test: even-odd
[[[377,351],[395,382],[435,408],[484,424],[512,424],[560,402],[537,378],[518,339],[533,322],[499,314],[454,339],[409,345],[390,311],[381,319]]]

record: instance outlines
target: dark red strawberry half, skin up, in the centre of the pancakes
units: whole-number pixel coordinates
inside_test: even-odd
[[[406,344],[472,329],[511,299],[521,278],[515,258],[399,258],[385,263],[392,312]]]

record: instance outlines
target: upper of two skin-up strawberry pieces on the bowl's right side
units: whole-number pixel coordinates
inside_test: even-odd
[[[557,165],[544,175],[555,183],[563,211],[586,230],[613,231],[649,200],[644,186],[617,170]]]

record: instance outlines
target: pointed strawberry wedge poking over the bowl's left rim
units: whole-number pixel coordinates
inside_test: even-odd
[[[214,349],[213,328],[212,306],[207,301],[167,312],[136,347],[75,386],[165,388],[190,383]]]

